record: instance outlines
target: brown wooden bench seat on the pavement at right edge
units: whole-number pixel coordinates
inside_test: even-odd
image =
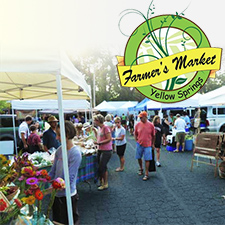
[[[215,166],[215,177],[218,173],[218,160],[221,156],[221,142],[222,135],[219,133],[200,133],[196,136],[195,148],[193,151],[191,171],[193,171],[194,162],[204,163],[207,165]],[[197,159],[195,159],[197,157]],[[209,159],[210,162],[199,161],[198,158]],[[215,163],[212,163],[215,160]]]

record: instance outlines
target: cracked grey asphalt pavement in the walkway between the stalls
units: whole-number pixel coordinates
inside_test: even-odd
[[[135,141],[128,136],[126,168],[115,172],[109,162],[109,189],[91,182],[78,184],[81,224],[225,224],[225,180],[214,178],[214,167],[200,164],[190,172],[192,152],[161,151],[162,167],[148,181],[138,176]]]

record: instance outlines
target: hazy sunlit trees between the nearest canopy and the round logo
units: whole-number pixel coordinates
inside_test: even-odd
[[[135,88],[122,87],[116,68],[116,56],[110,51],[89,50],[73,60],[75,67],[85,75],[93,90],[95,74],[96,105],[102,101],[141,101],[144,96]]]

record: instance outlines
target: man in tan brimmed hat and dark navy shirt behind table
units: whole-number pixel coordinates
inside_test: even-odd
[[[57,149],[61,145],[59,140],[56,139],[56,127],[58,120],[55,116],[50,116],[48,118],[48,123],[50,124],[50,128],[43,134],[43,146],[46,152],[48,152],[51,148]]]

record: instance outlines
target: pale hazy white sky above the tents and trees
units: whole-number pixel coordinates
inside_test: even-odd
[[[128,37],[119,28],[120,13],[146,14],[150,0],[0,0],[0,43],[60,46],[72,55],[92,47],[124,53]],[[211,46],[225,48],[224,0],[155,0],[155,15],[181,12],[205,32]],[[143,18],[130,14],[121,21],[130,34]]]

